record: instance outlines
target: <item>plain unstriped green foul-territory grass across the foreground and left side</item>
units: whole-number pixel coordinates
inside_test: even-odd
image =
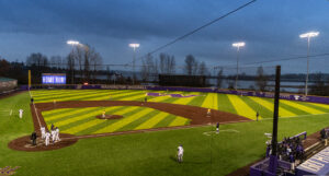
[[[235,129],[239,132],[222,131],[219,134],[205,136],[203,132],[214,129],[202,127],[83,139],[71,146],[47,152],[13,151],[7,148],[8,142],[30,134],[33,130],[29,103],[27,93],[0,99],[0,167],[21,166],[18,176],[226,175],[264,156],[266,138],[263,133],[272,131],[272,121],[264,119],[220,126],[220,130]],[[23,119],[18,117],[19,108],[24,109]],[[5,113],[9,109],[14,109],[12,117]],[[63,109],[63,112],[46,114],[65,112],[70,110]],[[313,133],[327,127],[328,121],[328,115],[280,118],[279,138],[305,130]],[[180,143],[185,150],[182,164],[174,161],[177,146]]]

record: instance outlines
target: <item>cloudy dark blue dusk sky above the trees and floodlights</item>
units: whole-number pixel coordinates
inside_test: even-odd
[[[0,0],[0,56],[25,61],[31,52],[67,56],[68,39],[89,44],[104,63],[132,61],[247,0]],[[241,64],[303,56],[307,40],[299,34],[318,31],[310,55],[329,54],[328,0],[258,0],[194,35],[159,51],[182,64],[188,54],[207,66],[236,63],[231,43],[243,40]],[[159,54],[158,52],[158,54]],[[155,54],[158,57],[158,54]],[[305,72],[306,59],[271,62],[284,72]],[[329,56],[313,59],[310,71],[329,72]]]

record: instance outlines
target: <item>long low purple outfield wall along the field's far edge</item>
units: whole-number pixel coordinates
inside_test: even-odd
[[[78,89],[78,90],[152,90],[152,91],[183,91],[183,92],[204,92],[204,93],[223,93],[243,96],[258,96],[274,98],[271,92],[254,91],[235,91],[235,90],[217,90],[211,87],[179,87],[179,86],[149,86],[149,85],[33,85],[31,89]],[[21,90],[29,90],[27,85],[21,86]],[[281,99],[311,102],[329,104],[329,97],[325,96],[305,96],[298,94],[281,94]]]

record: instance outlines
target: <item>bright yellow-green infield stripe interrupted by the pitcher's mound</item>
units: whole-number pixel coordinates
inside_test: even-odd
[[[106,112],[106,114],[111,115],[112,113],[114,113],[114,112],[116,112],[117,109],[121,109],[121,108],[122,108],[122,106],[106,107],[105,112]],[[101,113],[100,113],[100,115],[101,115]],[[88,128],[91,128],[93,126],[97,126],[99,124],[102,124],[102,122],[104,122],[104,120],[105,119],[98,119],[98,118],[95,118],[95,116],[91,116],[87,120],[83,120],[83,121],[80,121],[79,124],[70,126],[64,132],[67,132],[67,133],[77,133],[77,132],[80,132],[80,131],[86,130]]]

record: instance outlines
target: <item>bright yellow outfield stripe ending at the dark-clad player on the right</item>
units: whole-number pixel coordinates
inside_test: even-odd
[[[234,105],[237,114],[250,119],[256,119],[256,112],[247,105],[239,96],[237,95],[227,95],[229,102]],[[259,116],[261,119],[262,117]]]

